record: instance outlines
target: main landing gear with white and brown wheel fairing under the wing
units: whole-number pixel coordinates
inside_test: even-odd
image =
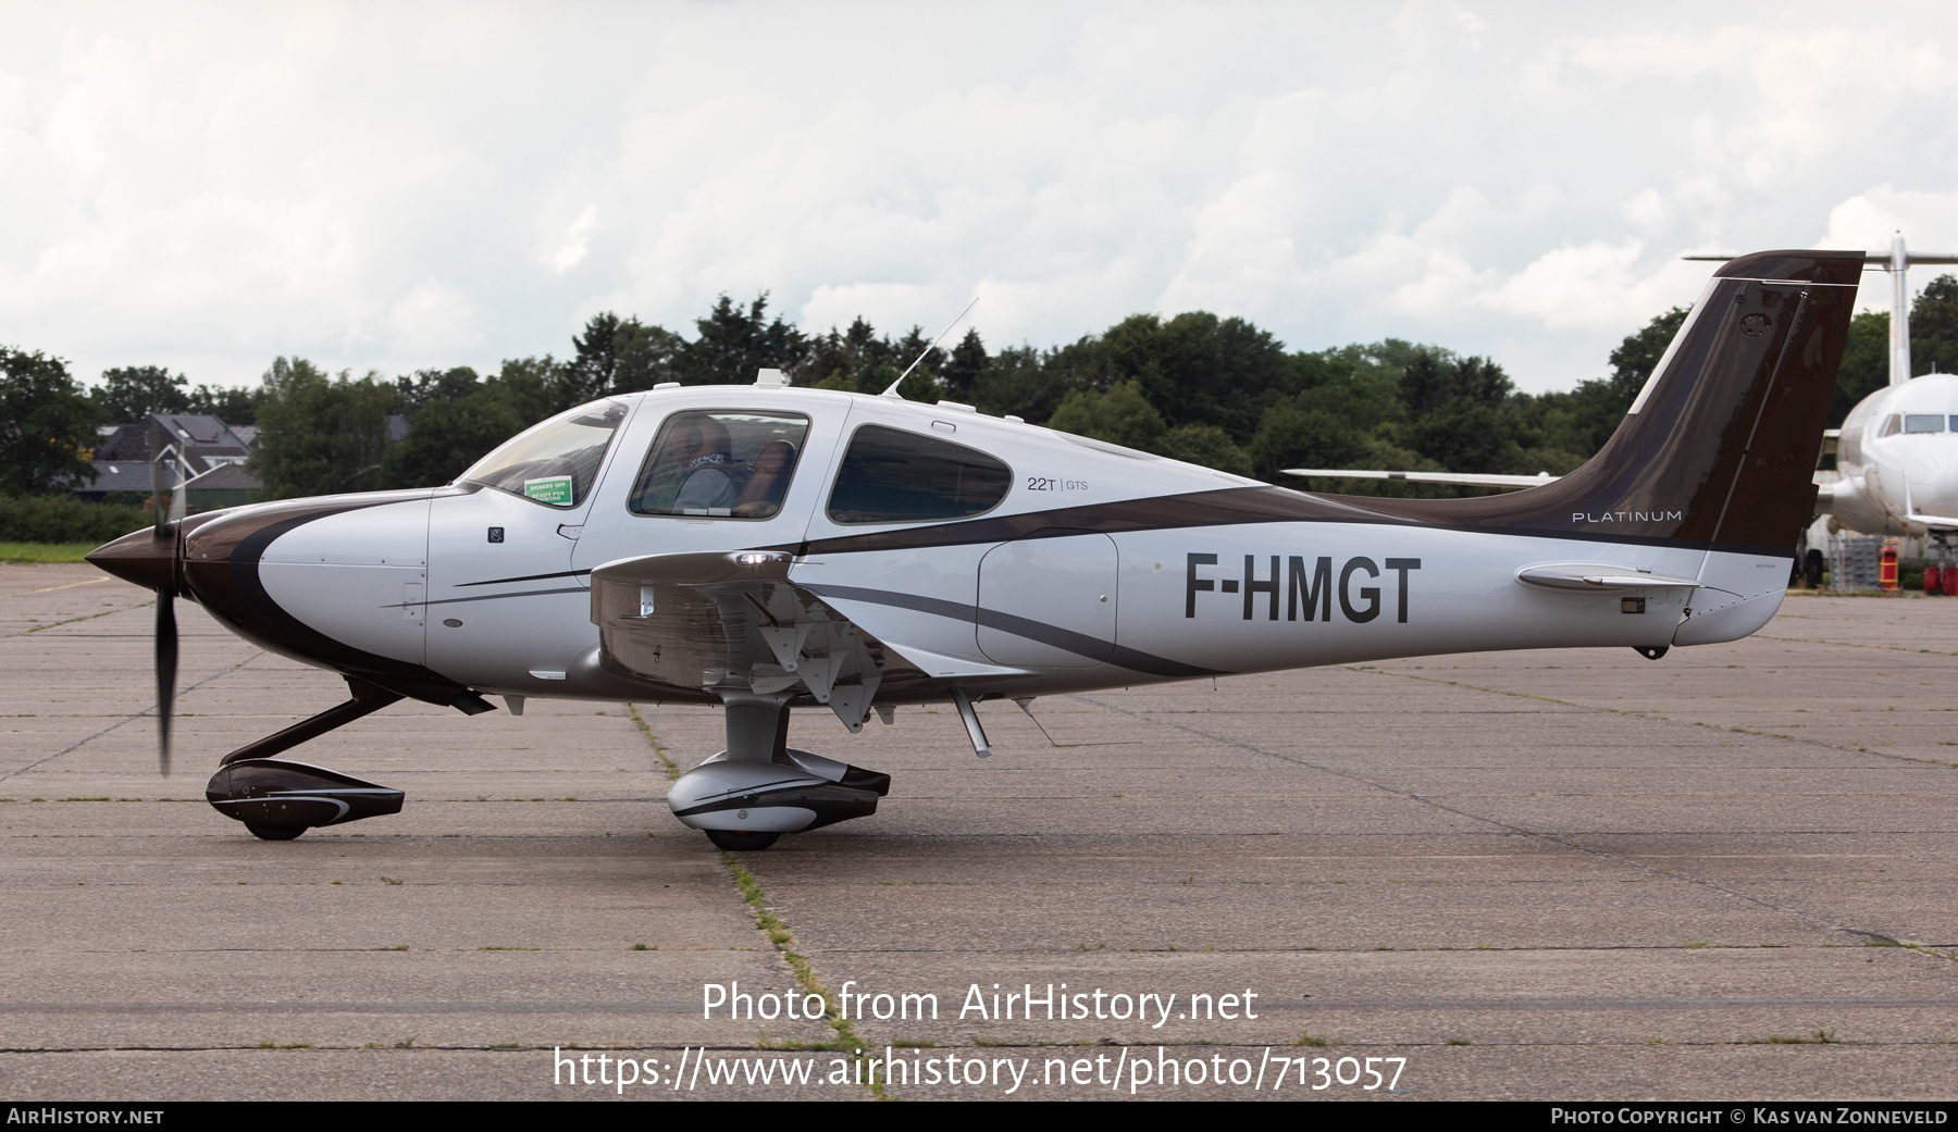
[[[785,697],[781,697],[785,699]],[[891,776],[789,748],[777,697],[728,699],[728,748],[679,776],[666,805],[723,850],[764,850],[785,832],[869,817]]]

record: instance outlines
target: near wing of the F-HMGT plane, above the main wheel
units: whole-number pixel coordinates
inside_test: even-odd
[[[609,672],[656,695],[724,693],[824,703],[863,727],[879,687],[924,674],[789,582],[777,550],[652,554],[591,572],[591,621]]]

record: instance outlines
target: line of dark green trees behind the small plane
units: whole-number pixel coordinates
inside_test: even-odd
[[[0,349],[0,495],[67,492],[98,423],[151,411],[215,413],[258,427],[251,470],[268,497],[425,488],[560,409],[607,394],[750,384],[764,366],[799,386],[912,400],[948,398],[995,415],[1290,486],[1357,494],[1457,494],[1386,482],[1302,484],[1282,468],[1402,468],[1562,474],[1611,435],[1686,317],[1674,307],[1629,333],[1606,372],[1568,392],[1525,394],[1494,358],[1384,339],[1288,351],[1239,317],[1132,315],[1073,343],[989,349],[979,331],[930,351],[920,327],[867,319],[805,333],[768,296],[721,296],[691,335],[605,311],[566,358],[511,358],[495,372],[429,368],[388,378],[274,358],[255,388],[196,386],[163,366],[106,370],[92,390],[41,353]],[[1889,317],[1864,311],[1837,382],[1831,423],[1888,382]],[[1958,368],[1958,278],[1940,276],[1911,311],[1917,372]],[[405,437],[390,439],[390,419]],[[399,427],[396,425],[396,431]]]

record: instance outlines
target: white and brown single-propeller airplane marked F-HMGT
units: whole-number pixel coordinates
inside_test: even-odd
[[[715,703],[726,750],[668,805],[723,848],[875,811],[889,776],[787,748],[957,707],[1488,648],[1735,640],[1780,607],[1862,253],[1715,280],[1617,433],[1553,484],[1480,499],[1273,488],[936,405],[660,388],[560,413],[446,488],[282,499],[88,556],[347,678],[352,697],[223,758],[208,795],[268,840],[401,793],[276,754],[397,699]],[[166,731],[164,731],[166,734]]]

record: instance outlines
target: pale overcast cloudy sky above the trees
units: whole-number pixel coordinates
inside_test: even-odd
[[[1958,8],[1870,10],[0,2],[0,343],[251,382],[979,296],[1568,388],[1682,253],[1958,251]]]

